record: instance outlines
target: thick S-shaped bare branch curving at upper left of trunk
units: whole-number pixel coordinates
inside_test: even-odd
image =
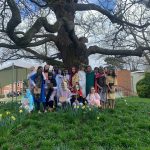
[[[15,34],[15,28],[18,26],[18,24],[21,23],[21,15],[20,15],[19,9],[14,0],[7,0],[7,3],[12,12],[12,17],[7,24],[6,32],[9,38],[16,45],[20,47],[27,46],[32,41],[33,36],[35,36],[35,34],[38,33],[42,27],[44,27],[45,30],[50,33],[55,33],[58,31],[60,27],[59,21],[57,21],[54,25],[50,25],[46,18],[40,17],[36,20],[33,26],[26,33],[24,33],[24,36],[19,38]]]

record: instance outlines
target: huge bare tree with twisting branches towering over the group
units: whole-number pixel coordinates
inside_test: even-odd
[[[129,1],[120,0],[112,11],[100,3],[93,4],[87,0],[1,0],[0,47],[4,48],[1,59],[23,57],[55,64],[56,58],[59,58],[70,67],[74,64],[88,64],[88,56],[95,53],[142,56],[144,51],[150,51],[150,22],[149,17],[145,18],[149,8],[141,6],[138,0]],[[144,4],[148,6],[147,3]],[[136,20],[130,17],[130,8],[133,6],[141,7],[141,16],[137,17],[136,13],[134,15]],[[105,36],[107,44],[102,47],[101,44],[88,45],[88,39],[85,36],[78,37],[75,31],[76,13],[93,10],[101,17],[97,22],[107,20],[111,24],[110,32]],[[49,18],[51,13],[55,16],[55,23],[50,23],[53,19]],[[29,23],[26,31],[19,30],[22,20]],[[126,45],[123,45],[122,39],[126,40]],[[39,50],[41,45],[44,48]],[[52,47],[55,47],[56,54],[50,53],[54,50]]]

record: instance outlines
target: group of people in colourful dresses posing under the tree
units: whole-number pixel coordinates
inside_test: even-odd
[[[54,68],[49,65],[32,67],[28,74],[29,90],[39,113],[40,104],[44,112],[57,107],[89,105],[114,109],[116,74],[114,69],[81,65],[71,70]],[[29,92],[29,91],[28,91]]]

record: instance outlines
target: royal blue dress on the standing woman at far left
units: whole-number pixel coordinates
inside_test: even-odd
[[[36,78],[37,78],[37,73],[31,76],[31,80],[36,84]],[[39,102],[46,102],[46,96],[45,96],[45,80],[43,75],[41,75],[41,93],[40,93],[40,98],[37,100]],[[35,98],[34,98],[35,99]]]

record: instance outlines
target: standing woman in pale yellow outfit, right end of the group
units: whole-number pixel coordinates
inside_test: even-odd
[[[108,86],[107,99],[108,99],[109,108],[114,109],[114,107],[115,107],[115,86],[117,85],[115,70],[112,70],[112,69],[109,70],[109,73],[106,77],[106,83]]]

